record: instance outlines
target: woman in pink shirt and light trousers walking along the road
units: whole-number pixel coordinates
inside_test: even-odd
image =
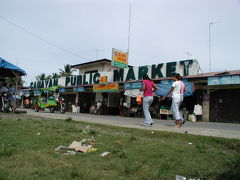
[[[157,91],[156,84],[148,77],[148,75],[143,76],[143,113],[145,116],[144,125],[152,126],[153,120],[149,112],[149,108],[153,102],[153,94]]]

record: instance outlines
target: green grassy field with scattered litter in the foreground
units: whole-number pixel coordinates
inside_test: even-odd
[[[39,134],[40,135],[37,135]],[[94,137],[97,151],[54,149]],[[101,157],[102,152],[112,154]],[[74,122],[0,117],[0,179],[239,179],[240,141]]]

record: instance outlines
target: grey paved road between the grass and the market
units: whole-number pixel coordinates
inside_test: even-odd
[[[90,115],[83,113],[59,114],[57,112],[34,112],[33,110],[27,110],[27,112],[28,115],[43,118],[66,119],[68,117],[71,117],[75,121],[107,124],[120,127],[170,131],[179,133],[184,133],[187,131],[189,134],[240,139],[240,124],[233,123],[186,122],[183,127],[174,128],[173,121],[155,119],[154,125],[152,127],[146,127],[143,125],[143,118],[129,118],[109,115]]]

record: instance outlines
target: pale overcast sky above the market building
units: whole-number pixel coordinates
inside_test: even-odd
[[[111,59],[128,47],[134,66],[195,58],[209,71],[240,69],[240,0],[0,0],[0,16],[70,50],[40,41],[0,18],[0,57],[26,70],[29,83],[64,64]],[[191,55],[187,55],[187,53]]]

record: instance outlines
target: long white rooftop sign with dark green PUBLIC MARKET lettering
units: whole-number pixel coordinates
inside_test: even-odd
[[[182,76],[195,75],[198,72],[198,68],[198,62],[191,59],[178,62],[153,64],[151,66],[120,68],[108,72],[79,74],[58,79],[35,81],[30,83],[30,87],[33,89],[39,89],[52,86],[67,87],[93,85],[99,84],[99,79],[102,76],[107,76],[108,83],[142,80],[144,74],[148,74],[148,76],[154,80],[163,77],[171,77],[174,73],[179,73]]]

